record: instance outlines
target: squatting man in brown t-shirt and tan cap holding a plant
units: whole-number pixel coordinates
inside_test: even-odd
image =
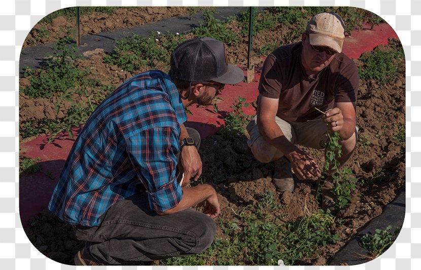
[[[310,19],[300,43],[279,47],[265,60],[248,144],[258,161],[275,161],[273,182],[279,191],[294,189],[291,167],[299,179],[321,176],[296,144],[320,149],[327,133],[337,131],[341,165],[357,144],[358,70],[341,53],[343,41],[342,19],[321,13]]]

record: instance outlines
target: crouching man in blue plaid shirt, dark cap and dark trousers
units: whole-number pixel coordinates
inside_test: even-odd
[[[152,70],[118,87],[69,153],[49,209],[86,241],[77,265],[198,254],[213,242],[217,193],[208,184],[186,186],[202,164],[200,136],[183,124],[185,108],[211,104],[243,72],[209,37],[180,44],[170,66],[169,75]],[[190,209],[199,203],[204,213]]]

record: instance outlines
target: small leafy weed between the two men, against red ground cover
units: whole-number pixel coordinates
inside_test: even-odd
[[[247,108],[249,103],[245,102],[245,98],[238,96],[234,100],[231,108],[233,111],[229,112],[224,118],[225,125],[221,127],[220,132],[226,138],[235,138],[244,133],[244,123],[247,120],[247,115],[242,111],[242,108]]]

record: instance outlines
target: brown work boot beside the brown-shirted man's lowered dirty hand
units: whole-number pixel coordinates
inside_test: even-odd
[[[291,163],[282,157],[274,162],[273,183],[278,191],[294,190],[294,178],[292,177]]]

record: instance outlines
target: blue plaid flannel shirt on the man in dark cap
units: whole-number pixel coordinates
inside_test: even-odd
[[[180,125],[187,115],[162,71],[123,83],[92,113],[69,153],[48,208],[71,224],[95,226],[113,204],[146,191],[165,211],[183,196],[176,180]]]

